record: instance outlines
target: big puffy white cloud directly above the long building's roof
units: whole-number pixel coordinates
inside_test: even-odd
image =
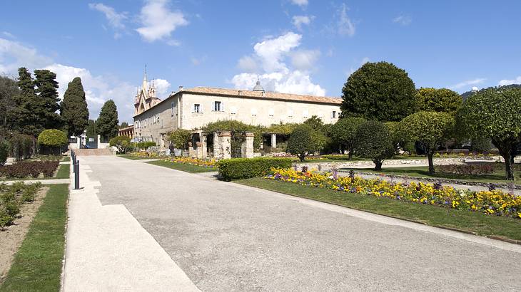
[[[300,46],[301,38],[297,33],[288,32],[256,43],[254,53],[238,62],[238,68],[246,72],[234,75],[231,83],[235,88],[251,90],[259,78],[265,90],[325,95],[325,90],[311,81],[307,70],[313,68],[320,51],[295,51]],[[291,59],[295,69],[286,65],[287,58]]]

